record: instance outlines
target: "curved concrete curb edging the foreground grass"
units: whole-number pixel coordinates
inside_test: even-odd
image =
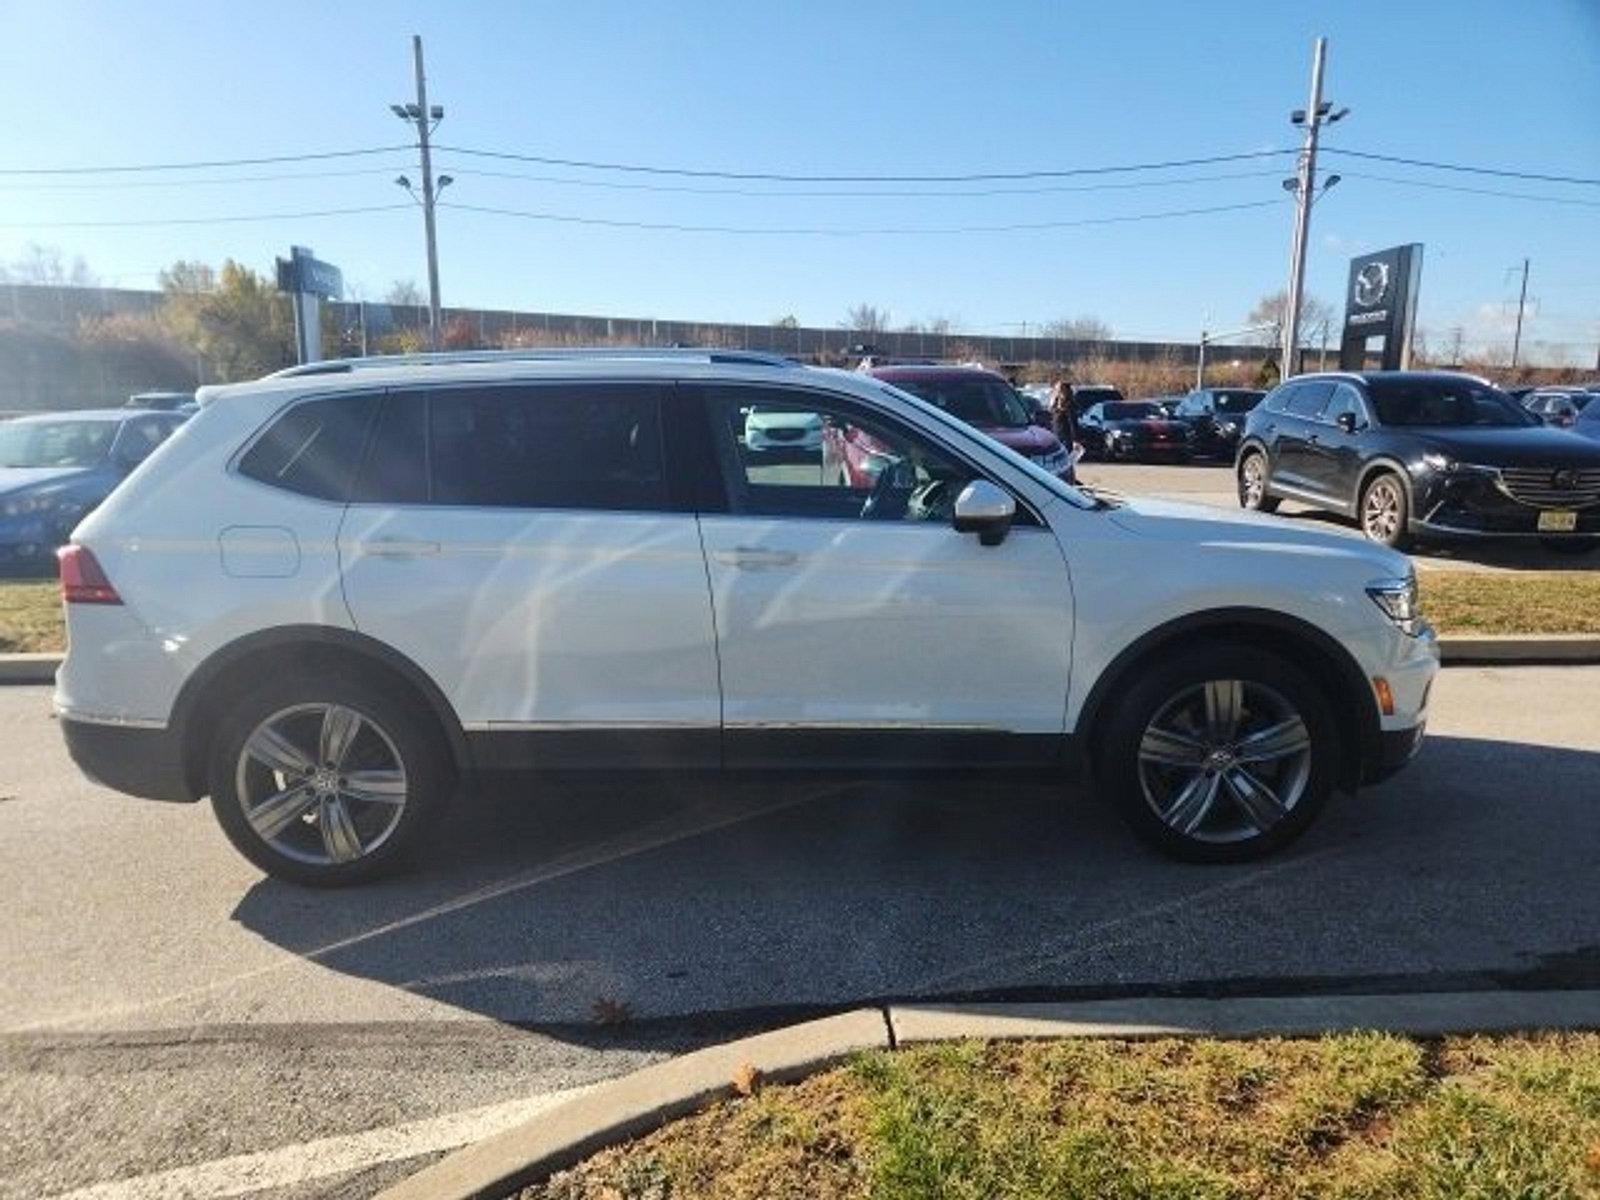
[[[733,1077],[742,1066],[757,1067],[766,1080],[792,1082],[864,1050],[952,1038],[1312,1037],[1352,1029],[1416,1037],[1600,1029],[1600,990],[862,1008],[600,1083],[534,1120],[446,1155],[378,1200],[498,1200],[733,1094]]]

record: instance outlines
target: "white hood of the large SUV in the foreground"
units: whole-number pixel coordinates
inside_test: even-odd
[[[1282,517],[1158,499],[1126,499],[1109,515],[1128,533],[1152,541],[1358,560],[1370,566],[1374,579],[1403,579],[1411,573],[1411,562],[1403,554],[1376,546],[1354,530],[1312,530]]]

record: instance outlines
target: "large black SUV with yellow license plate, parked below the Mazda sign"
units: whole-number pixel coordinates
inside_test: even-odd
[[[1246,418],[1235,477],[1246,509],[1330,509],[1397,549],[1419,538],[1600,546],[1600,445],[1467,374],[1296,376]]]

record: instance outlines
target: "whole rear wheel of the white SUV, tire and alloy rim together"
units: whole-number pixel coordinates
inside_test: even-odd
[[[451,784],[443,741],[414,706],[362,678],[267,683],[222,718],[211,806],[269,875],[338,886],[405,862]]]

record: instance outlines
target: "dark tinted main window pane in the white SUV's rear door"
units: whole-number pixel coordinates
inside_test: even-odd
[[[438,390],[427,406],[434,504],[667,507],[653,387]]]

